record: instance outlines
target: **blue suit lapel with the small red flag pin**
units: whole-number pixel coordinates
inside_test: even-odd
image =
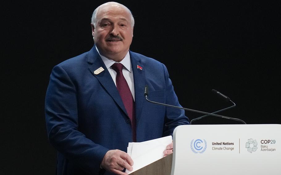
[[[135,85],[135,107],[136,107],[136,122],[140,119],[141,110],[143,107],[144,90],[145,90],[145,67],[141,59],[133,52],[130,51],[130,58],[132,64],[132,71]],[[137,66],[142,68],[139,69]]]

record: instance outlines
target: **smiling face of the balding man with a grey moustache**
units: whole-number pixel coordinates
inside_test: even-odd
[[[121,61],[127,54],[133,37],[129,12],[122,6],[106,5],[100,7],[96,19],[92,34],[100,54]]]

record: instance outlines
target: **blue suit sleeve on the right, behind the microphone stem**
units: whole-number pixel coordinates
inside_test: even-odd
[[[182,107],[178,102],[178,97],[174,92],[172,81],[164,64],[165,85],[166,85],[166,104]],[[173,136],[174,129],[179,125],[189,124],[189,119],[185,116],[183,109],[166,107],[163,136]]]

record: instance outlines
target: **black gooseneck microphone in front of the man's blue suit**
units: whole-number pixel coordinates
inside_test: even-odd
[[[226,118],[226,119],[230,119],[230,120],[236,120],[236,121],[240,121],[240,122],[246,124],[245,121],[243,121],[243,120],[241,120],[241,119],[237,119],[237,118],[232,118],[232,117],[227,117],[227,116],[221,116],[221,115],[212,114],[212,113],[209,113],[209,112],[197,111],[197,110],[194,110],[194,109],[182,108],[182,107],[173,106],[173,105],[170,105],[170,104],[164,104],[164,103],[158,103],[158,102],[155,102],[155,101],[150,101],[150,100],[148,100],[148,98],[147,98],[147,96],[148,96],[148,86],[145,86],[145,93],[144,93],[144,95],[145,95],[145,99],[146,99],[148,102],[150,102],[150,103],[160,104],[160,105],[168,106],[168,107],[172,107],[172,108],[184,109],[184,110],[187,110],[187,111],[198,112],[198,113],[207,114],[207,115],[211,115],[211,116],[217,116],[217,117]]]

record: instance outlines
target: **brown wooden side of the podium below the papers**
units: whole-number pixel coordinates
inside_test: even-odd
[[[173,153],[155,161],[141,169],[136,170],[131,175],[170,175],[172,170]]]

